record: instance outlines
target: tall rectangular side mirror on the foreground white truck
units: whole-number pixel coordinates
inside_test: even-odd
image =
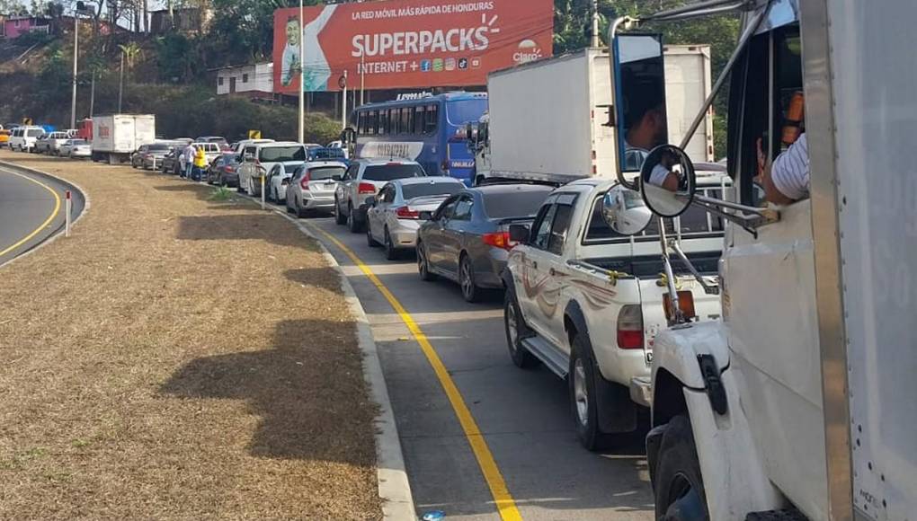
[[[612,110],[616,129],[618,180],[636,190],[633,176],[650,151],[668,143],[662,36],[621,34],[612,43]]]

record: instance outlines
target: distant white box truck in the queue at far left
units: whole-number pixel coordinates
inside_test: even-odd
[[[112,114],[93,120],[93,159],[126,163],[141,145],[156,141],[153,114]]]

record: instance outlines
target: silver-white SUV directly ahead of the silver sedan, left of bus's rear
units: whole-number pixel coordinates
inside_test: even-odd
[[[363,231],[367,198],[374,197],[385,183],[394,179],[422,178],[426,173],[416,161],[406,159],[357,159],[335,190],[335,222],[347,224],[350,232]]]

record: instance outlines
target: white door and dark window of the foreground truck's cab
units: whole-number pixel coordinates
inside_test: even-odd
[[[763,205],[757,142],[776,158],[788,103],[802,90],[798,26],[757,36],[734,71],[730,172],[738,199]],[[737,122],[741,122],[738,124]],[[781,208],[757,236],[729,226],[722,274],[724,322],[742,404],[768,478],[811,518],[826,517],[822,375],[811,204]],[[821,515],[813,514],[821,513]]]

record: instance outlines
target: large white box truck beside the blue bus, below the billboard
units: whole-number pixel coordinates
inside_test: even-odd
[[[710,47],[667,46],[668,141],[678,143],[711,91]],[[612,179],[617,157],[608,49],[579,52],[495,71],[488,76],[490,112],[472,134],[475,182],[487,178],[565,183]],[[713,161],[713,113],[687,152]]]

